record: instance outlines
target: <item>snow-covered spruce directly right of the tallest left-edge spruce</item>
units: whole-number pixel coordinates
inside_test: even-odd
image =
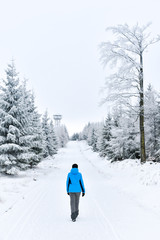
[[[26,81],[21,86],[21,101],[19,121],[22,125],[20,146],[25,148],[25,152],[18,156],[18,164],[23,169],[37,165],[42,159],[43,152],[43,134],[38,114],[35,107],[34,94],[26,89]]]

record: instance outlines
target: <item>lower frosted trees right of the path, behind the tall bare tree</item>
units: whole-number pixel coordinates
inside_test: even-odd
[[[160,94],[151,85],[144,97],[146,159],[160,161]],[[115,107],[104,123],[88,123],[80,133],[93,151],[116,161],[140,158],[139,121],[135,109]]]

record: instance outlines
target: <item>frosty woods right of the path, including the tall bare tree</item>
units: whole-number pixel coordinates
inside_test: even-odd
[[[144,53],[160,41],[152,37],[150,25],[108,27],[112,41],[100,44],[100,61],[110,73],[102,103],[111,110],[105,123],[85,126],[80,139],[112,161],[160,161],[160,93],[151,84],[144,88]]]

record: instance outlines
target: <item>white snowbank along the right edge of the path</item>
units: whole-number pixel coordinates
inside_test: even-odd
[[[126,159],[113,162],[101,158],[85,142],[80,143],[81,152],[98,171],[105,175],[113,187],[127,194],[144,208],[160,215],[160,164]]]

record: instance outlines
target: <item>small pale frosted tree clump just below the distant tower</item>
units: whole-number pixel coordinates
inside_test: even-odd
[[[55,127],[55,135],[57,138],[58,148],[63,148],[69,141],[68,131],[65,125]]]

